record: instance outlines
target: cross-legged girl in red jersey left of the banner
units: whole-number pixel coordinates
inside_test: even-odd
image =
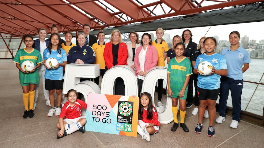
[[[86,119],[82,117],[81,108],[86,109],[87,104],[78,98],[78,93],[74,89],[70,89],[67,93],[68,101],[62,107],[57,127],[60,131],[57,139],[67,136],[75,131],[85,133]]]

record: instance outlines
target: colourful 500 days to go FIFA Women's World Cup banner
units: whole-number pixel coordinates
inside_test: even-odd
[[[87,95],[85,130],[137,136],[139,97]]]

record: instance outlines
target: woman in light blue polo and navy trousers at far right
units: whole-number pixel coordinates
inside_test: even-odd
[[[240,121],[243,73],[249,68],[251,62],[248,51],[239,45],[239,41],[239,32],[232,31],[229,34],[231,45],[220,53],[226,59],[228,75],[221,78],[219,117],[216,122],[222,123],[222,121],[225,121],[226,101],[230,90],[233,106],[231,128],[237,128]]]

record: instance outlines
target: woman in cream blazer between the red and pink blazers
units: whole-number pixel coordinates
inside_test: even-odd
[[[127,57],[126,63],[127,63],[127,66],[131,67],[135,71],[135,65],[134,65],[135,51],[141,45],[138,42],[138,34],[135,31],[130,32],[129,38],[131,42],[126,43],[127,50],[128,50],[128,57]]]

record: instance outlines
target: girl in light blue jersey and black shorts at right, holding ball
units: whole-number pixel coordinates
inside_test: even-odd
[[[213,37],[208,37],[204,40],[204,48],[206,49],[206,53],[201,54],[197,57],[194,65],[194,73],[198,75],[198,82],[197,82],[197,93],[198,98],[200,100],[199,111],[198,111],[198,124],[195,128],[196,133],[201,133],[202,131],[202,119],[205,113],[206,106],[208,106],[209,112],[209,127],[207,135],[210,137],[214,136],[214,119],[216,114],[215,104],[217,97],[220,91],[220,78],[221,75],[227,75],[227,66],[226,61],[223,56],[214,52],[216,48],[216,39]],[[207,75],[203,76],[197,70],[198,64],[202,61],[210,62],[212,67],[212,72]]]

